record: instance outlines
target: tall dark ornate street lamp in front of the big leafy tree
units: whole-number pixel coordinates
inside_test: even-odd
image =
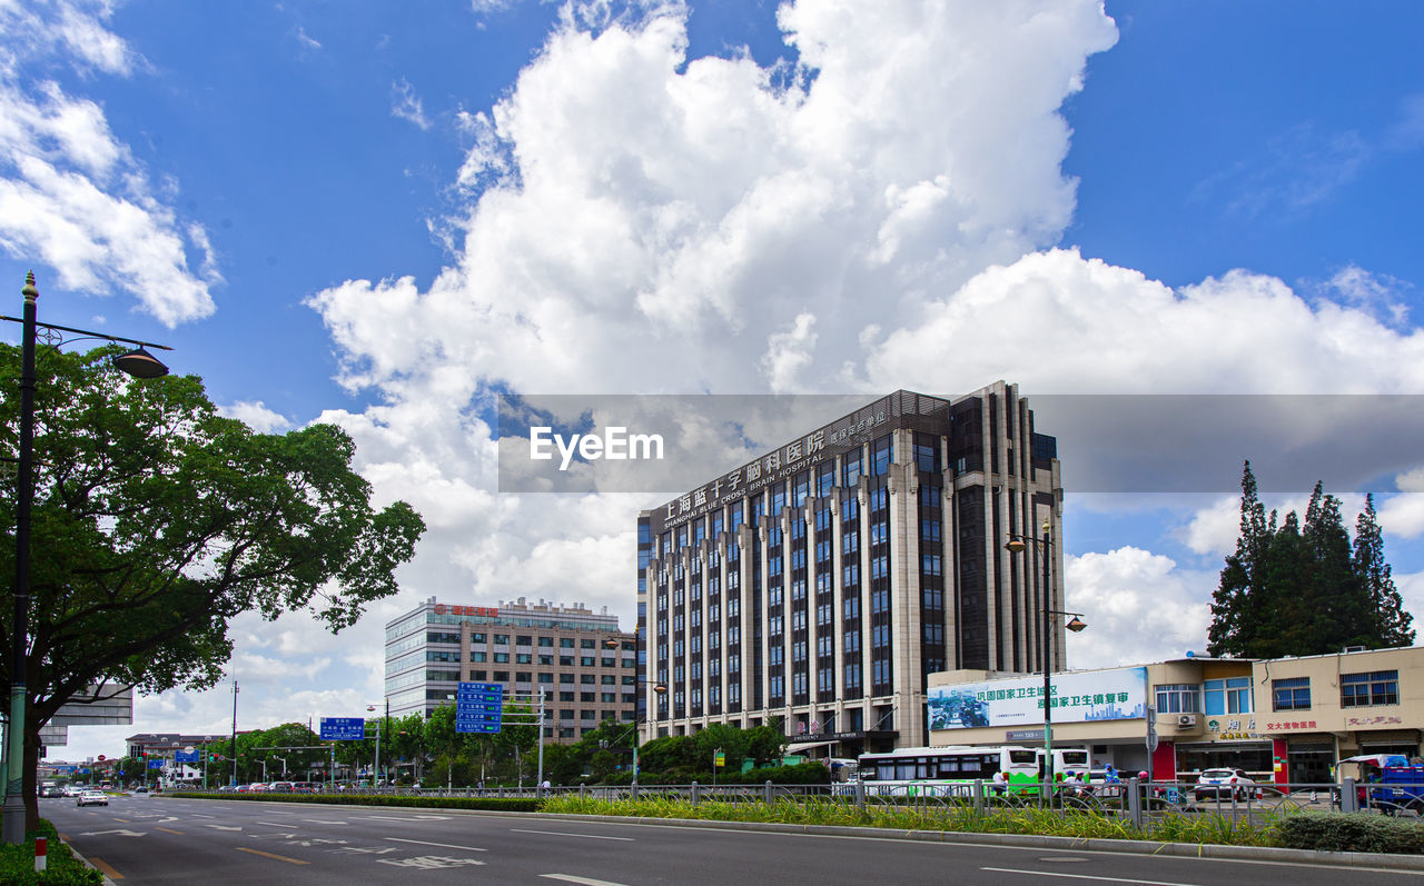
[[[122,338],[105,333],[91,333],[68,326],[54,326],[40,323],[37,317],[37,303],[40,290],[34,287],[34,272],[24,276],[24,316],[6,317],[10,323],[24,326],[20,346],[20,458],[16,476],[16,518],[14,518],[14,630],[10,658],[10,741],[6,751],[9,765],[6,768],[6,794],[3,826],[0,839],[6,843],[24,842],[24,721],[27,704],[26,660],[24,653],[28,646],[28,631],[26,626],[30,619],[30,505],[34,502],[34,347],[38,330],[46,330],[46,343],[58,347],[67,341],[80,338],[104,338],[108,341],[122,341],[137,346],[135,350],[121,354],[112,360],[114,367],[135,378],[158,378],[168,374],[168,367],[150,354],[145,347],[157,347],[171,351],[171,347]],[[61,333],[74,333],[66,338]],[[147,771],[145,771],[147,778]]]

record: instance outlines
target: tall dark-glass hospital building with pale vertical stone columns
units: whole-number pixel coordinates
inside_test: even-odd
[[[642,512],[642,738],[780,717],[836,757],[928,744],[928,674],[1041,668],[1061,513],[1057,441],[1005,383],[896,391]],[[1040,545],[1004,548],[1045,521],[1048,589]]]

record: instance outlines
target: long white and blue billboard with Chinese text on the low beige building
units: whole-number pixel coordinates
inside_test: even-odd
[[[931,730],[1015,727],[1044,721],[1044,678],[933,685],[926,703]],[[1148,668],[1069,671],[1052,677],[1054,722],[1146,717]]]

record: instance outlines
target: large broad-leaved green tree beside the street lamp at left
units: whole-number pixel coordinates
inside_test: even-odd
[[[222,418],[197,377],[134,381],[114,348],[37,354],[27,634],[26,806],[37,823],[38,730],[91,684],[214,685],[228,623],[308,610],[332,631],[397,590],[424,530],[404,502],[376,511],[339,428],[256,434]],[[0,347],[0,377],[20,374]],[[0,397],[0,457],[19,451],[19,397]],[[0,582],[13,594],[14,478],[0,495]],[[4,649],[14,626],[9,607]],[[9,707],[9,661],[0,697]]]

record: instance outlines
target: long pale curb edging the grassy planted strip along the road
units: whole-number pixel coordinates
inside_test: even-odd
[[[195,798],[197,799],[197,798]],[[263,801],[242,801],[263,802]],[[266,801],[273,802],[273,801]],[[289,805],[275,801],[273,805]],[[392,809],[399,806],[365,806],[362,804],[302,804],[345,809]],[[711,828],[716,831],[762,831],[766,833],[805,833],[810,836],[849,836],[860,839],[914,840],[924,843],[963,843],[980,846],[1017,846],[1051,849],[1057,852],[1115,852],[1121,855],[1165,855],[1233,862],[1273,862],[1316,865],[1321,868],[1418,870],[1424,872],[1421,855],[1388,855],[1383,852],[1326,852],[1320,849],[1279,849],[1274,846],[1223,846],[1215,843],[1166,843],[1156,840],[1116,840],[1104,838],[1041,836],[1032,833],[968,833],[960,831],[890,831],[884,828],[852,828],[844,825],[785,825],[778,822],[723,822],[692,818],[649,818],[638,815],[577,815],[571,812],[501,812],[496,809],[444,809],[423,806],[447,815],[510,816],[528,815],[574,822],[632,822],[668,828]],[[78,853],[75,853],[78,855]],[[88,863],[88,862],[85,862]],[[105,883],[108,879],[105,877]],[[110,885],[112,886],[112,885]]]

